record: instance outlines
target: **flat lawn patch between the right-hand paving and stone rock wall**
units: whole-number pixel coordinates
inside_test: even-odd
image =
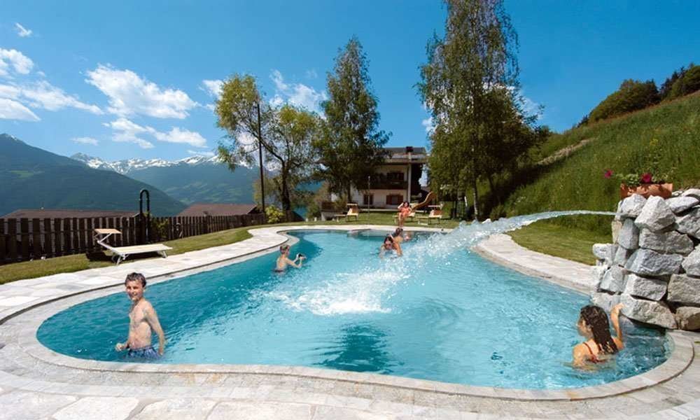
[[[593,244],[612,242],[610,234],[603,235],[598,231],[572,228],[548,221],[535,222],[509,232],[508,235],[525,248],[588,265],[596,263],[592,251]]]

